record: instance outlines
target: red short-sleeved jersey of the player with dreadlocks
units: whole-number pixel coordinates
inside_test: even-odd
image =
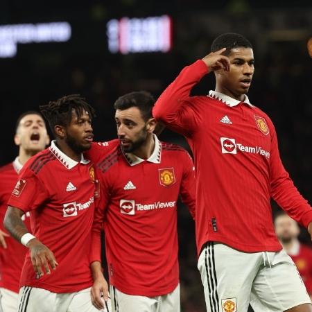
[[[94,166],[75,162],[55,146],[31,157],[21,169],[8,205],[30,211],[32,232],[59,266],[36,279],[29,252],[20,286],[73,293],[92,286],[89,246],[94,218]]]

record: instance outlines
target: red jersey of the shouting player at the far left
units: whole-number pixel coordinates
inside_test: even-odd
[[[6,229],[3,228],[3,218],[6,209],[8,209],[7,202],[12,189],[15,187],[21,167],[22,165],[18,157],[16,157],[14,162],[0,168],[0,229],[3,232],[6,232]],[[29,214],[25,214],[23,220],[29,232],[31,232]],[[21,268],[28,249],[12,237],[6,237],[5,239],[8,248],[0,247],[0,287],[18,293]]]

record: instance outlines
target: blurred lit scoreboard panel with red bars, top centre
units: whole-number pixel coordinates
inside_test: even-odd
[[[171,49],[171,17],[111,19],[107,22],[111,53],[168,52]]]

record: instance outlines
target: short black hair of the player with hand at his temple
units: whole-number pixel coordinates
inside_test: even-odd
[[[223,53],[224,55],[229,55],[231,50],[234,48],[250,48],[252,49],[252,44],[239,33],[223,33],[216,37],[214,42],[211,44],[211,52],[216,52],[222,48],[227,48]]]

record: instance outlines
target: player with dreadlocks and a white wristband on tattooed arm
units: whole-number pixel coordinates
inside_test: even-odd
[[[40,107],[55,135],[26,162],[8,201],[4,225],[29,248],[19,311],[92,312],[89,246],[94,219],[94,166],[83,157],[93,139],[93,108],[77,95]],[[31,214],[33,235],[21,220]]]

